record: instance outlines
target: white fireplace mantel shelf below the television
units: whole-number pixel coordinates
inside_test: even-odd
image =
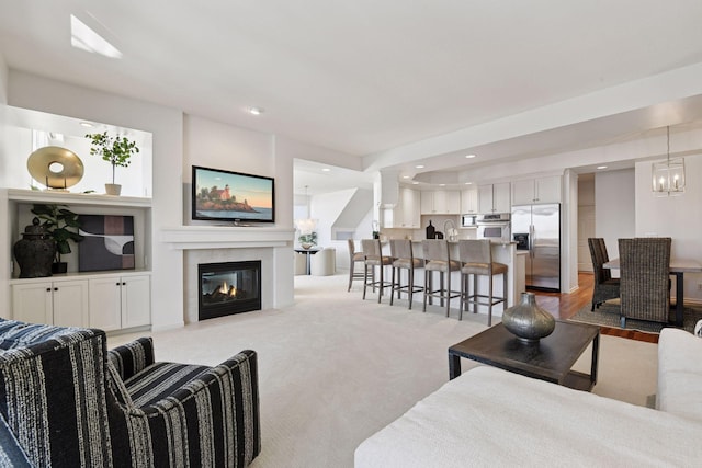
[[[293,246],[295,229],[258,226],[179,226],[161,229],[160,240],[173,250],[246,249]]]

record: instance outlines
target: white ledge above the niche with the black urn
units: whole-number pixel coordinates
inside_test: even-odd
[[[120,206],[150,208],[151,198],[138,196],[112,196],[94,193],[69,193],[8,189],[8,199],[26,203],[53,203],[59,205]]]

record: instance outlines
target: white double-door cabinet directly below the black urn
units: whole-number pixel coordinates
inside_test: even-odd
[[[12,285],[13,318],[30,323],[88,327],[86,279],[27,281]]]

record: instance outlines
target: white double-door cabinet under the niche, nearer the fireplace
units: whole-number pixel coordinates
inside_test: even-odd
[[[104,331],[151,322],[148,275],[114,275],[89,279],[90,327]]]

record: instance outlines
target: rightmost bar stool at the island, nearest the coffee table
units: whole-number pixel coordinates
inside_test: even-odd
[[[478,305],[487,306],[487,326],[492,326],[492,306],[502,303],[507,308],[507,265],[492,262],[492,249],[489,239],[472,239],[458,241],[458,256],[461,267],[461,313],[458,320],[463,320],[463,309],[473,304],[473,313],[477,313]],[[473,294],[469,294],[468,279],[473,275]],[[492,294],[492,279],[495,275],[502,275],[502,296]],[[488,294],[478,294],[478,276],[488,277]],[[487,301],[480,301],[487,299]],[[466,309],[467,310],[467,309]]]

